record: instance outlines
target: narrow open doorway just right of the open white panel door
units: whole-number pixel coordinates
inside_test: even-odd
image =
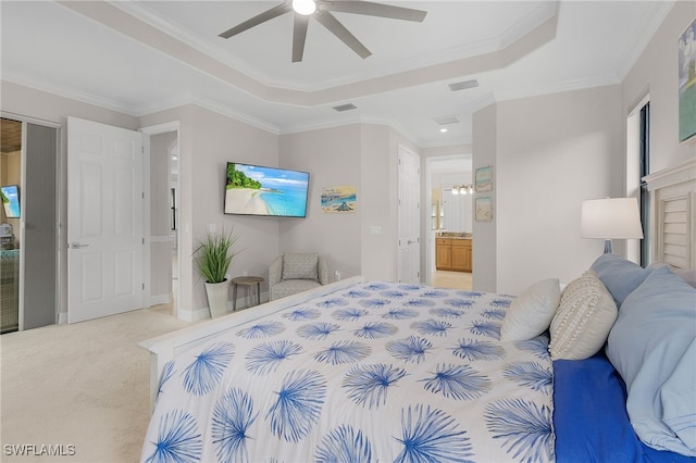
[[[150,152],[150,305],[177,314],[179,300],[178,123],[147,127]]]

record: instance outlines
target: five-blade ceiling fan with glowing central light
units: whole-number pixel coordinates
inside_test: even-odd
[[[388,17],[393,20],[423,22],[427,12],[413,10],[410,8],[395,7],[384,3],[357,0],[286,0],[282,4],[260,13],[250,20],[236,25],[235,27],[220,34],[220,37],[229,38],[273,20],[282,14],[294,12],[295,24],[293,30],[293,62],[302,61],[304,54],[304,41],[307,39],[307,28],[310,17],[314,17],[326,27],[332,34],[338,37],[352,51],[361,58],[372,54],[368,48],[360,42],[332,12],[364,14],[368,16]]]

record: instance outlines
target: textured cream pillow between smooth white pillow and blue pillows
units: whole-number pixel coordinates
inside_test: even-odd
[[[563,289],[551,320],[551,360],[588,359],[607,341],[619,310],[595,272],[587,271]]]

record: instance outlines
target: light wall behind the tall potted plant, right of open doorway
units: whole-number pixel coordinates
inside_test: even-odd
[[[194,272],[191,253],[208,225],[234,228],[239,235],[229,277],[268,277],[268,265],[278,253],[277,217],[224,214],[225,167],[227,161],[278,165],[278,136],[196,105],[148,115],[142,126],[181,122],[179,148],[179,316],[185,320],[207,315],[206,289]],[[268,289],[262,286],[262,291]],[[232,291],[229,295],[232,298]],[[232,299],[231,299],[232,300]]]

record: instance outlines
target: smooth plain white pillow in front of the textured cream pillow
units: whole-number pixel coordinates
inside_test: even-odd
[[[500,326],[501,341],[525,341],[548,329],[561,300],[558,278],[543,279],[510,303]]]

